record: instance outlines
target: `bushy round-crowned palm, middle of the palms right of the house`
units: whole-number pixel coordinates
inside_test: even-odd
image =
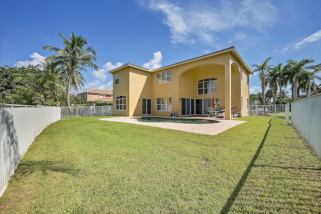
[[[277,66],[270,67],[268,69],[266,82],[269,83],[269,86],[275,90],[279,88],[279,93],[281,94],[280,97],[280,104],[282,104],[282,87],[286,85],[286,78],[285,78],[285,70],[282,67],[282,63],[277,64]],[[275,105],[275,101],[273,102]]]

